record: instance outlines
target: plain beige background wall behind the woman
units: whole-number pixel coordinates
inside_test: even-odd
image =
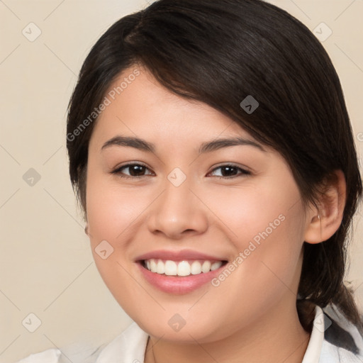
[[[312,31],[321,22],[333,30],[323,45],[362,152],[363,1],[271,2]],[[0,362],[72,342],[101,344],[131,322],[99,277],[84,235],[67,171],[65,116],[91,45],[118,18],[145,6],[145,0],[0,0]],[[33,42],[31,22],[41,30]],[[40,175],[33,186],[23,179],[30,168]],[[347,279],[362,306],[360,214],[355,222]],[[34,333],[22,325],[29,313],[42,322]]]

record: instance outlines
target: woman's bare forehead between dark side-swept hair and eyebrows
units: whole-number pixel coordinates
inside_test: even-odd
[[[168,138],[252,137],[235,121],[215,108],[172,93],[135,65],[125,69],[108,87],[106,106],[92,138],[112,138],[115,133],[146,135],[155,140]]]

